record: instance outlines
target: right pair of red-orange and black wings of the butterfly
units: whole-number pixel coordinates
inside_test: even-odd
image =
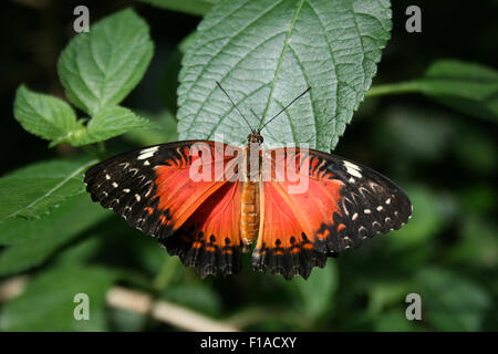
[[[263,220],[253,253],[258,270],[308,278],[326,256],[400,229],[411,217],[412,205],[400,187],[338,156],[272,149],[263,153],[264,166],[271,180],[262,183]]]

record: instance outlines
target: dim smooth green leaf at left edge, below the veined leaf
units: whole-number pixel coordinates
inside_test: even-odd
[[[0,223],[0,244],[10,244],[0,253],[0,275],[40,266],[82,231],[110,216],[87,196],[80,195],[45,218]]]

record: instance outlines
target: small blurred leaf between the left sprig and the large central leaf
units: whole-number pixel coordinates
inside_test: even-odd
[[[123,137],[129,142],[136,143],[142,146],[163,144],[168,142],[175,142],[178,138],[176,132],[176,121],[174,115],[164,111],[159,114],[141,113],[144,117],[147,117],[152,122],[156,123],[158,129],[154,131],[129,131]]]

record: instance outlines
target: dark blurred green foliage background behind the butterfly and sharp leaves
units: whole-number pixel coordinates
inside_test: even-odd
[[[2,175],[37,160],[82,154],[69,145],[49,149],[45,140],[25,132],[12,114],[21,83],[64,96],[56,61],[73,37],[73,9],[81,2],[0,3]],[[438,59],[496,69],[496,1],[393,2],[392,39],[373,86],[419,77]],[[148,22],[155,43],[144,80],[123,105],[155,119],[164,129],[126,134],[108,142],[108,150],[174,140],[181,60],[178,45],[201,17],[134,1],[85,4],[91,22],[133,6]],[[411,4],[422,8],[422,33],[405,31],[405,9]],[[409,223],[330,259],[324,269],[314,269],[308,281],[287,282],[255,273],[249,256],[240,274],[201,280],[177,258],[167,257],[155,240],[106,214],[98,225],[79,232],[41,264],[19,272],[35,279],[38,288],[22,300],[0,303],[0,322],[1,316],[9,317],[3,330],[74,330],[58,317],[64,316],[62,310],[54,310],[50,317],[33,311],[64,285],[56,277],[63,273],[58,264],[81,261],[118,272],[114,284],[240,330],[497,331],[496,119],[464,115],[419,94],[367,96],[335,153],[403,186],[414,205]],[[6,274],[0,282],[12,277],[19,274]],[[405,317],[408,293],[422,296],[422,321]],[[98,325],[76,330],[89,329],[177,331],[181,326],[102,303]]]

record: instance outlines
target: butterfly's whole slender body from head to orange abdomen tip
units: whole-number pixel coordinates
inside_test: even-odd
[[[261,179],[261,143],[262,136],[252,132],[248,135],[248,145],[245,152],[246,170],[242,180],[242,205],[240,232],[245,249],[258,237],[260,223],[259,188]]]

